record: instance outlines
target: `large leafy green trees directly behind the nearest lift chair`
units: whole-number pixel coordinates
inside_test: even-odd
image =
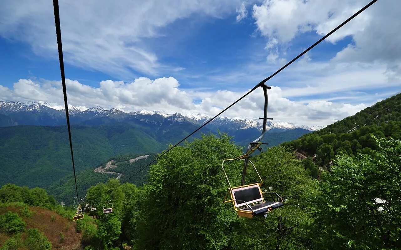
[[[91,187],[87,198],[97,207],[91,214],[99,218],[93,247],[126,242],[137,249],[308,248],[314,220],[307,204],[319,194],[318,181],[288,149],[272,148],[253,162],[265,187],[291,204],[267,218],[239,218],[222,202],[228,184],[221,162],[241,154],[230,139],[208,135],[174,148],[151,167],[143,187],[118,186],[117,180]],[[233,185],[240,182],[241,168],[241,162],[227,165]],[[247,182],[257,180],[250,170]],[[103,214],[98,208],[111,206],[110,199],[115,212]]]

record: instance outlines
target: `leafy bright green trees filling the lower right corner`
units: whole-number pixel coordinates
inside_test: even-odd
[[[321,182],[314,229],[321,249],[401,249],[401,141],[372,140],[372,155],[337,157]]]

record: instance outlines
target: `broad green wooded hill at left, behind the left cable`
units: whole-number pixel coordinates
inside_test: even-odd
[[[93,168],[117,154],[145,154],[162,150],[162,144],[154,139],[154,135],[131,124],[73,126],[71,130],[77,171]],[[171,134],[173,136],[174,131]],[[72,173],[67,128],[1,128],[0,159],[0,185],[11,182],[20,186],[47,188]]]

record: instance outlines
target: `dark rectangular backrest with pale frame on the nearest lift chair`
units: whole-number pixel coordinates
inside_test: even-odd
[[[260,190],[259,184],[252,184],[249,186],[243,186],[239,188],[231,189],[233,194],[235,207],[245,206],[245,202],[248,204],[263,200],[262,191]],[[244,200],[245,202],[241,202]]]

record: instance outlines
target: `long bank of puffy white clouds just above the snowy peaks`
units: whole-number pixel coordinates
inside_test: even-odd
[[[245,91],[215,92],[183,90],[173,77],[140,77],[133,82],[105,80],[97,87],[87,86],[76,80],[66,80],[69,104],[73,106],[102,106],[132,112],[148,110],[172,110],[180,113],[200,112],[214,116]],[[20,79],[13,89],[0,85],[1,100],[45,100],[63,103],[61,83],[49,80]],[[247,90],[248,91],[248,90]],[[365,104],[339,104],[327,101],[295,102],[283,96],[284,91],[273,86],[269,90],[269,115],[275,120],[298,122],[306,125],[327,125],[350,116],[365,108]],[[198,101],[200,100],[200,101]],[[228,117],[253,118],[263,113],[263,92],[255,90],[229,109]]]

